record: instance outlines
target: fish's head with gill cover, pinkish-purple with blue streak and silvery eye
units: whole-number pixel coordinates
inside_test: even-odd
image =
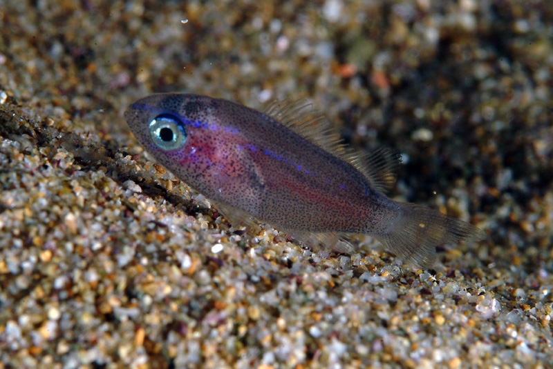
[[[242,119],[229,119],[239,117],[232,112],[236,106],[193,94],[157,94],[132,103],[124,118],[156,161],[213,198],[251,178],[255,168]]]

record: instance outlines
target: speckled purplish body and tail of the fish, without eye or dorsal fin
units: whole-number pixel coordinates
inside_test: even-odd
[[[185,127],[182,148],[153,143],[149,123],[161,114]],[[125,119],[142,146],[189,186],[301,239],[316,234],[329,247],[335,235],[364,233],[406,261],[430,266],[437,244],[485,237],[469,223],[388,199],[350,163],[231,101],[158,94],[131,104]]]

